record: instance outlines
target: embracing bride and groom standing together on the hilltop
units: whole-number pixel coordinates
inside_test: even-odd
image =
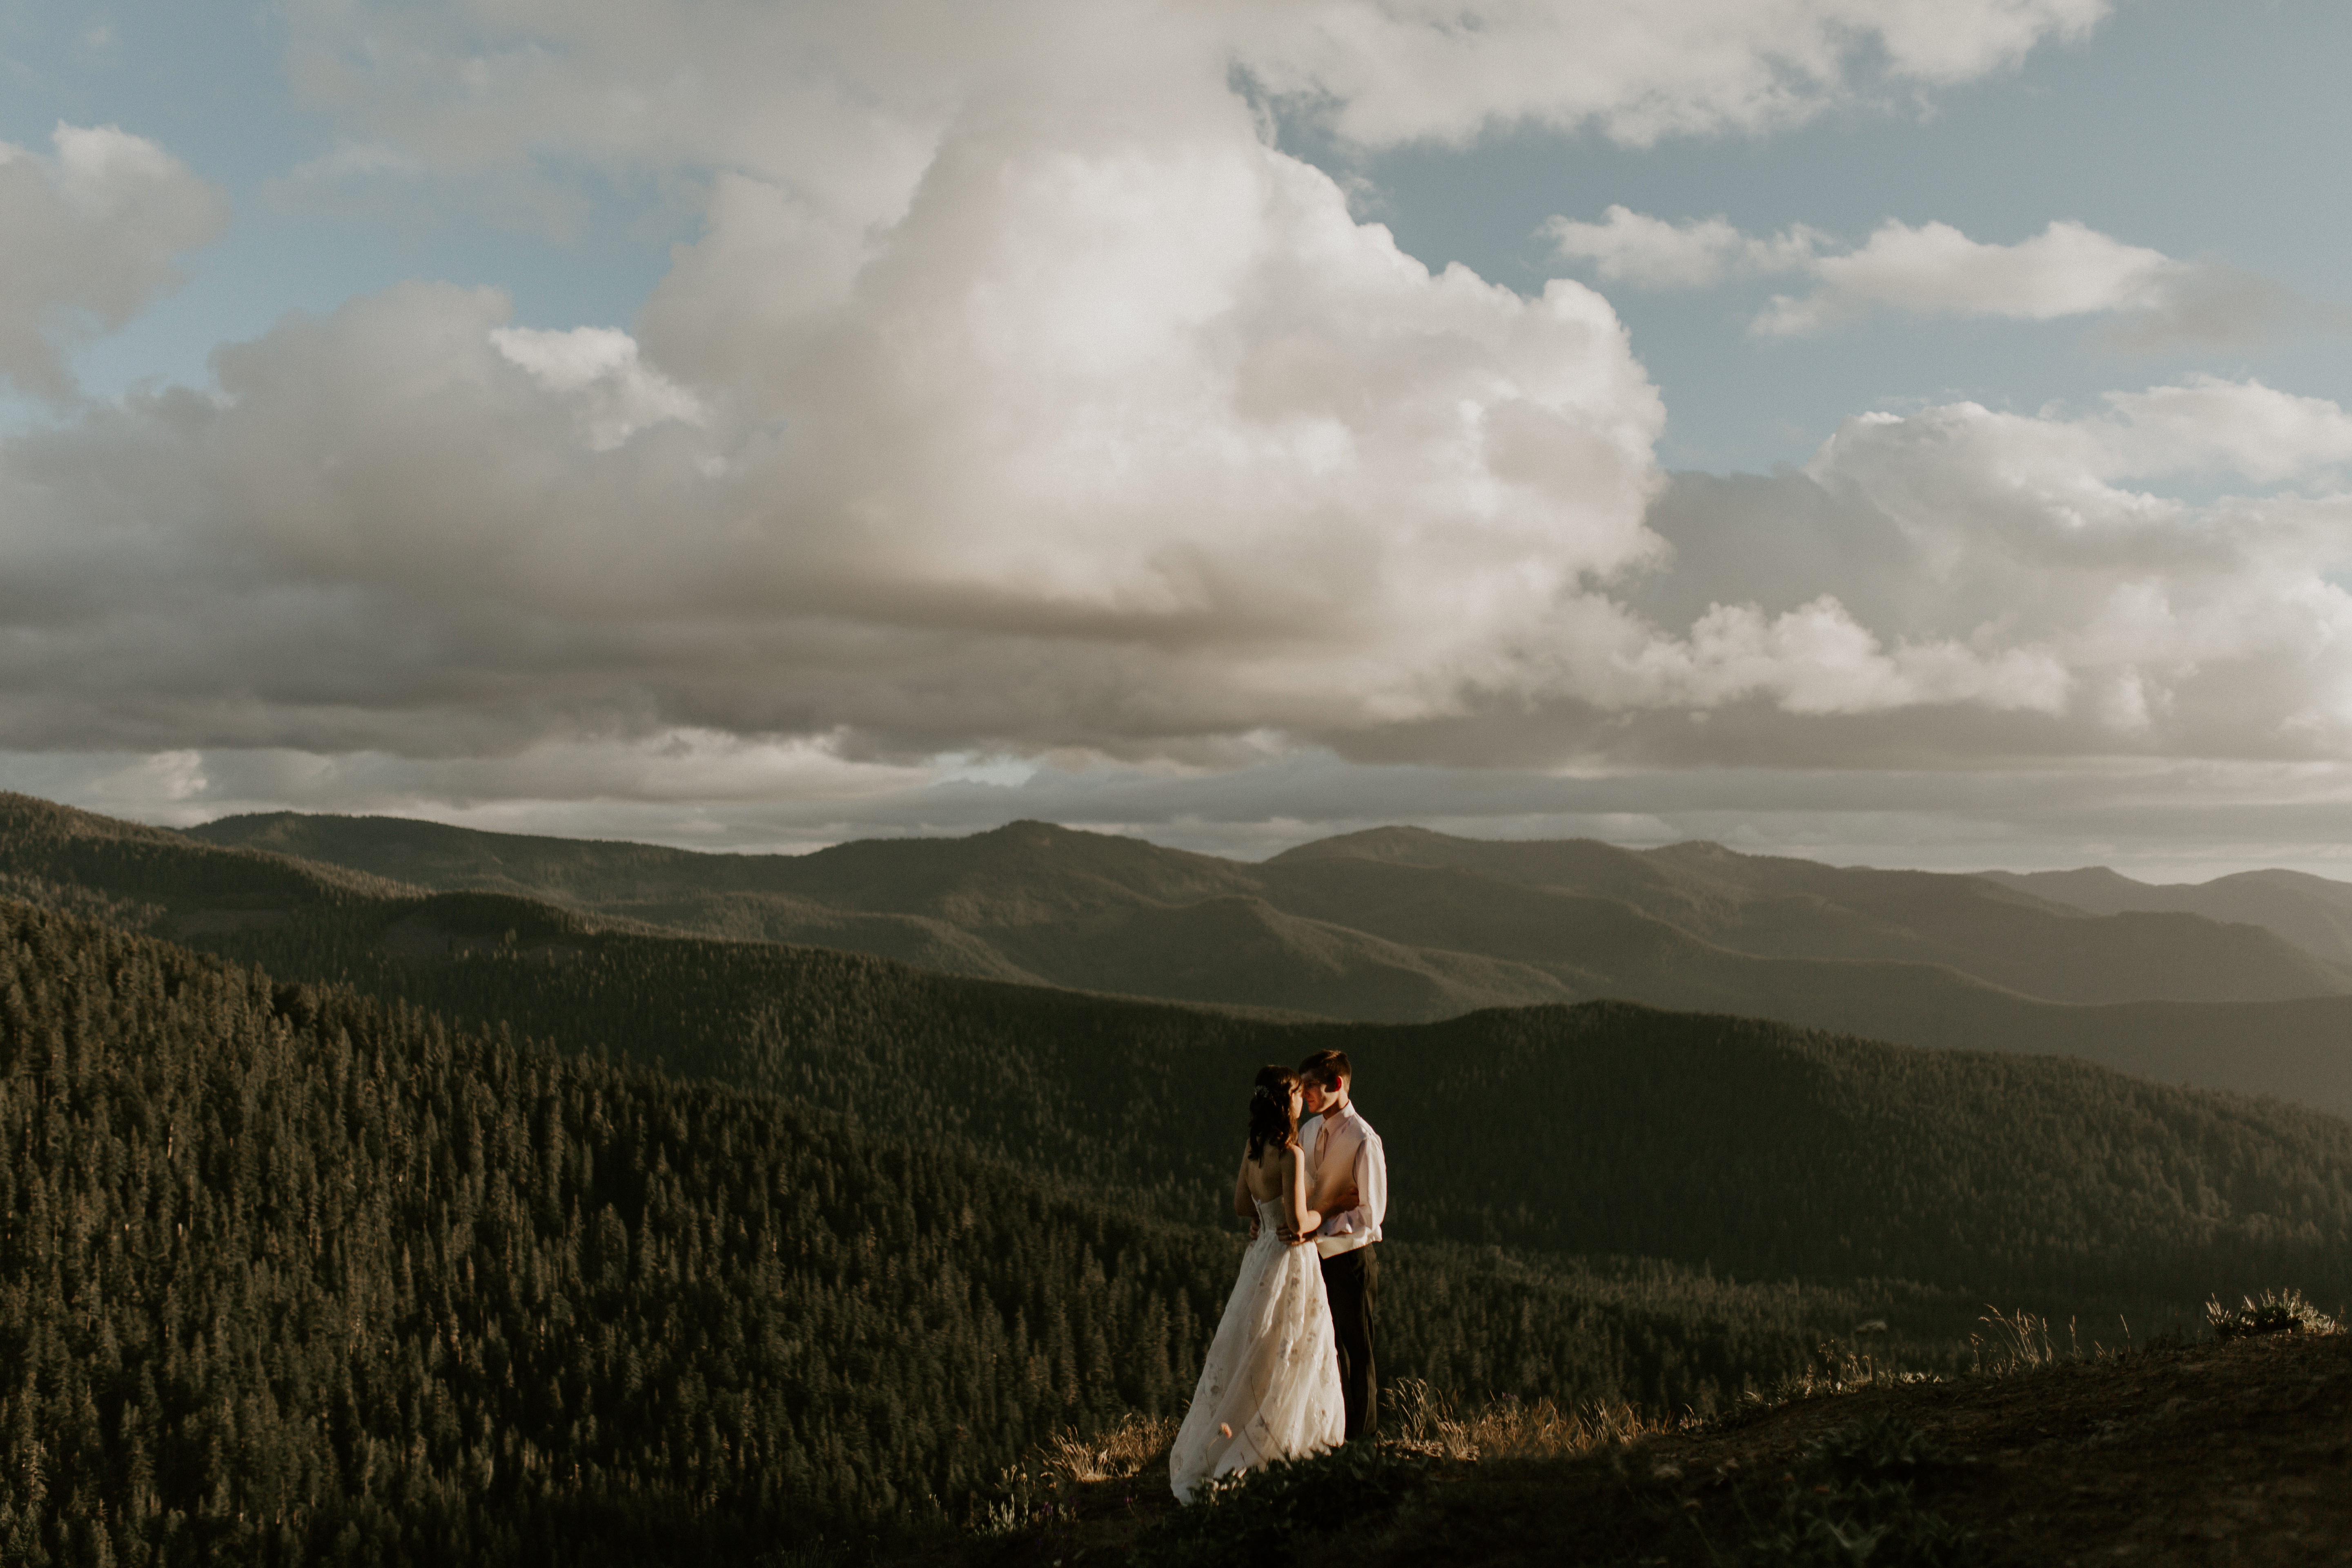
[[[1232,1180],[1249,1251],[1169,1453],[1178,1500],[1211,1476],[1371,1434],[1388,1157],[1352,1086],[1345,1051],[1317,1051],[1296,1072],[1258,1070]]]

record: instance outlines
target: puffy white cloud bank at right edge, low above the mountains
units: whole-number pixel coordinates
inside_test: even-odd
[[[2039,717],[1971,731],[2009,755],[2333,757],[2352,745],[2347,437],[2336,404],[2211,378],[2079,416],[1856,418],[1802,473],[1677,477],[1651,512],[1675,567],[1630,602],[1661,623],[1733,597],[1785,616],[1835,585],[1863,625],[2009,661],[2006,691],[2039,691],[2018,717]],[[2298,484],[2147,489],[2190,473]]]

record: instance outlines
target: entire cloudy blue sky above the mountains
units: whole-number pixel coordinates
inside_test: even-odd
[[[2352,877],[2347,54],[0,0],[0,788]]]

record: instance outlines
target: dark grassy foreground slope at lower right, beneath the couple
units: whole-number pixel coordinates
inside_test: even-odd
[[[1385,1495],[1364,1490],[1371,1458],[1341,1481],[1359,1497],[1348,1519],[1263,1497],[1251,1535],[1171,1540],[1164,1455],[1136,1453],[1096,1467],[1131,1474],[1065,1481],[964,1561],[2340,1566],[2352,1335],[1870,1385],[1571,1455],[1465,1462],[1390,1443],[1374,1467]]]

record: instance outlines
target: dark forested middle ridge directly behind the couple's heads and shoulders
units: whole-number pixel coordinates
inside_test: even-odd
[[[428,929],[459,957],[423,957]],[[1395,1150],[1402,1239],[1917,1279],[2042,1309],[2352,1284],[2352,1126],[2086,1063],[1628,1004],[1272,1020],[590,933],[482,893],[212,940],[280,973],[971,1140],[1174,1218],[1223,1208],[1251,1070],[1338,1044]]]

